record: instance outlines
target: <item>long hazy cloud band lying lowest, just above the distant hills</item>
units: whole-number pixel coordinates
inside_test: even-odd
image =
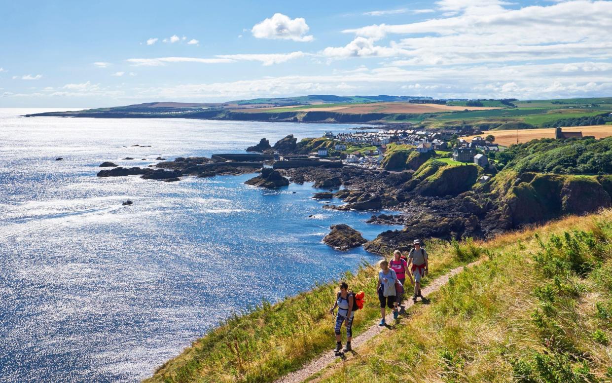
[[[435,66],[428,70],[381,67],[349,70],[332,75],[264,77],[223,83],[182,84],[166,88],[143,88],[140,99],[215,99],[288,96],[296,92],[344,94],[410,94],[441,98],[517,97],[560,98],[605,96],[612,93],[612,63],[485,64]],[[584,68],[597,67],[585,72]],[[570,70],[570,72],[568,72]],[[452,79],[452,81],[449,81]]]

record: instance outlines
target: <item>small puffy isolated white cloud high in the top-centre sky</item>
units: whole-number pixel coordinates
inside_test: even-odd
[[[281,39],[307,42],[312,41],[308,33],[308,25],[302,17],[289,18],[282,13],[274,13],[271,18],[253,26],[251,33],[257,39]]]

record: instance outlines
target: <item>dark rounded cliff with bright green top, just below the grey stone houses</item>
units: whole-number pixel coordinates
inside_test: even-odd
[[[431,197],[457,195],[468,191],[477,178],[476,165],[444,166],[420,182],[414,192]]]

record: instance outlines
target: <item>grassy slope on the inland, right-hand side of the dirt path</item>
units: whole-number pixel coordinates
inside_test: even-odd
[[[319,381],[610,382],[610,238],[608,210],[478,243],[486,262]]]

